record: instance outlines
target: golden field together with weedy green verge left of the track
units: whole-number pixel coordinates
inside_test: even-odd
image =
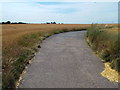
[[[16,81],[29,60],[34,57],[36,47],[50,35],[87,29],[90,25],[46,25],[21,24],[2,25],[3,30],[3,82],[2,88],[15,88]]]

